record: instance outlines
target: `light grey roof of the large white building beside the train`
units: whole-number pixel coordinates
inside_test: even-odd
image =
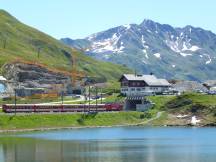
[[[158,79],[154,75],[134,75],[134,74],[124,74],[129,81],[144,81],[149,86],[170,86],[170,83],[166,79]]]

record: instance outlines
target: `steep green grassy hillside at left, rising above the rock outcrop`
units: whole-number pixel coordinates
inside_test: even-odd
[[[96,61],[80,51],[72,52],[60,41],[0,10],[0,67],[19,61],[69,72],[72,69],[71,53],[76,55],[77,69],[99,81],[116,79],[130,71],[120,65]]]

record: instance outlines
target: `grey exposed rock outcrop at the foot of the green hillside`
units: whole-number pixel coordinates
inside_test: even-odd
[[[6,64],[3,72],[4,77],[8,80],[9,88],[17,89],[17,93],[21,96],[48,91],[71,91],[70,76],[37,65]]]

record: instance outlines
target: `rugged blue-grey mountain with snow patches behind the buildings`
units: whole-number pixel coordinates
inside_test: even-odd
[[[175,28],[144,20],[118,26],[85,39],[61,39],[103,61],[126,65],[159,77],[216,79],[216,35],[202,28]]]

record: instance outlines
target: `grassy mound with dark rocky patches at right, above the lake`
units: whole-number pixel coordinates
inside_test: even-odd
[[[188,125],[192,116],[201,120],[200,125],[216,125],[215,95],[185,93],[180,96],[151,96],[149,99],[155,103],[149,113],[165,111],[152,125]],[[178,115],[187,117],[178,118]]]

